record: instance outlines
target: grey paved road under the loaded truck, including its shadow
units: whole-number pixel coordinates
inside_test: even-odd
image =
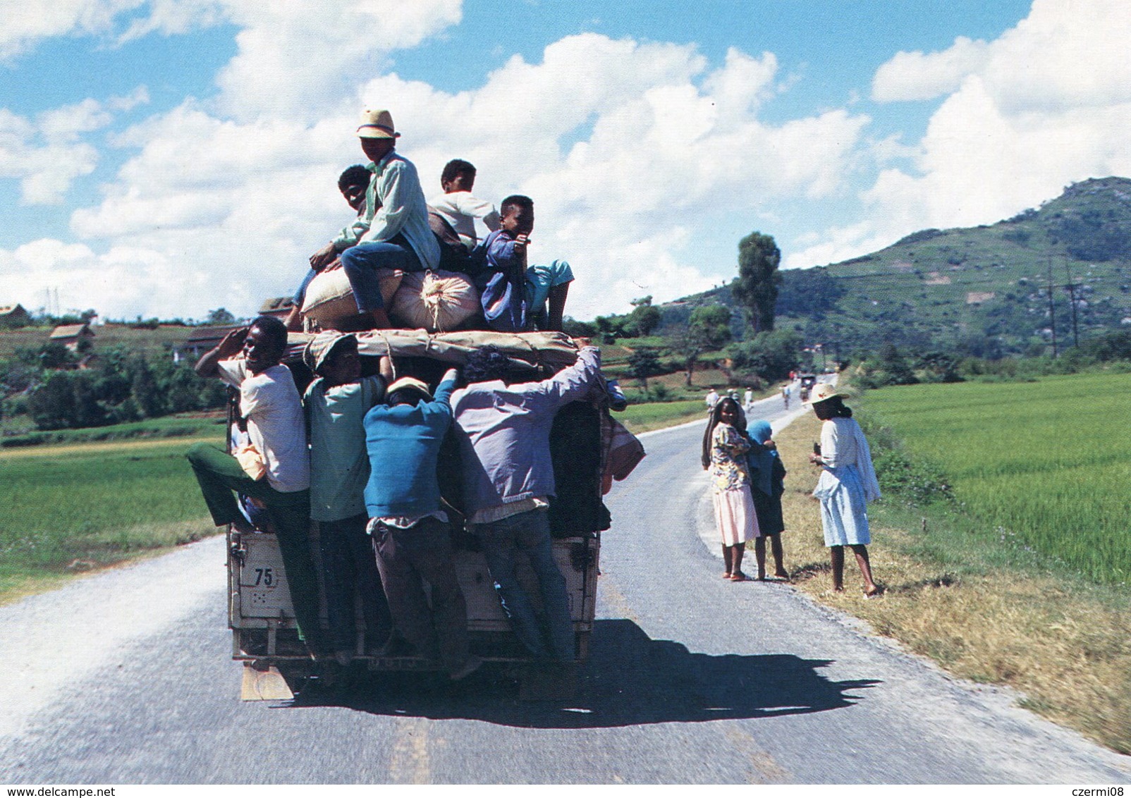
[[[775,402],[758,415],[779,415]],[[649,434],[611,495],[599,622],[568,705],[524,704],[485,677],[449,688],[409,676],[241,703],[210,539],[0,608],[0,782],[1131,779],[1129,757],[786,586],[719,579],[698,534],[700,435]]]

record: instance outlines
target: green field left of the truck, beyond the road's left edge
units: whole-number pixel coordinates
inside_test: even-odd
[[[184,451],[216,431],[0,450],[0,598],[211,534]]]

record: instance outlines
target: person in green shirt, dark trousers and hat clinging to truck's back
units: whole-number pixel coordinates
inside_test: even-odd
[[[365,535],[369,517],[363,492],[369,479],[369,457],[362,426],[365,413],[383,401],[392,365],[388,356],[382,356],[380,373],[363,378],[357,338],[336,330],[316,336],[307,345],[303,361],[318,375],[303,398],[310,430],[310,517],[320,527],[334,656],[347,665],[357,647],[355,590],[362,599],[369,653],[380,650],[392,631]]]

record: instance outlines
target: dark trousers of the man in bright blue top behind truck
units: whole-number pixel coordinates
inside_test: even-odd
[[[439,658],[448,673],[457,671],[468,653],[467,605],[456,579],[449,526],[425,518],[409,529],[375,527],[373,549],[392,623],[420,656]],[[431,608],[422,581],[432,588]]]

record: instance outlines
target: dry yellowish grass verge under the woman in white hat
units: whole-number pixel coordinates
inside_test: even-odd
[[[865,600],[852,557],[831,591],[809,465],[820,423],[803,416],[777,436],[786,468],[786,565],[797,589],[863,618],[951,674],[1025,694],[1021,704],[1131,754],[1131,589],[1050,571],[986,524],[936,503],[870,508],[877,581]],[[923,519],[926,519],[924,528]]]

